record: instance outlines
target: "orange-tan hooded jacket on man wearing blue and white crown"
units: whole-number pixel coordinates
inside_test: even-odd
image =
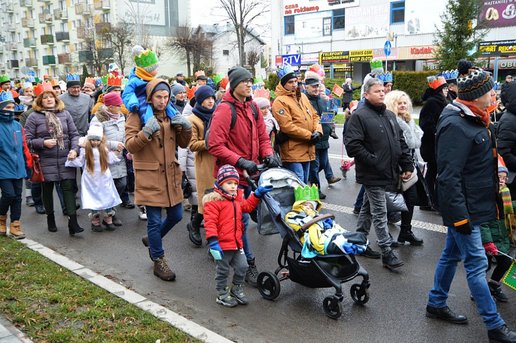
[[[281,83],[276,87],[276,100],[272,115],[278,121],[281,132],[289,139],[280,144],[283,162],[308,162],[315,160],[315,145],[310,143],[312,133],[320,132],[319,116],[301,90],[286,90]]]

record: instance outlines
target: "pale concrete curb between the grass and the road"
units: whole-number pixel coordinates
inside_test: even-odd
[[[46,246],[36,241],[22,239],[19,242],[25,244],[30,250],[38,252],[42,256],[59,264],[61,267],[67,268],[78,276],[83,277],[84,279],[101,288],[104,288],[108,292],[127,301],[128,303],[131,303],[143,309],[144,311],[147,311],[154,317],[169,323],[170,325],[174,326],[174,328],[179,329],[192,337],[195,337],[206,343],[233,343],[233,341],[204,328],[204,326],[201,326],[189,319],[186,319],[185,317],[176,314],[165,306],[156,304],[155,302],[150,301],[142,295],[128,290],[124,286],[95,273],[91,269],[84,267],[82,264],[56,253],[50,248],[47,248]],[[25,342],[29,343],[30,341]]]

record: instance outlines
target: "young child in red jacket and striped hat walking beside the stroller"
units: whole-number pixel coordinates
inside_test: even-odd
[[[219,169],[214,191],[202,199],[206,240],[217,263],[217,303],[227,307],[246,305],[248,301],[243,291],[248,264],[242,243],[242,212],[250,213],[260,197],[272,191],[271,184],[260,185],[253,195],[244,199],[244,190],[238,189],[238,181],[235,167],[224,165]],[[227,286],[230,266],[234,269],[231,290]]]

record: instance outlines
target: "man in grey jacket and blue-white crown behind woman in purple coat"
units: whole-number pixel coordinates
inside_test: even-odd
[[[58,96],[73,119],[80,136],[88,131],[88,121],[93,108],[93,100],[89,95],[80,92],[79,74],[67,74],[67,92]],[[71,168],[70,168],[71,169]]]

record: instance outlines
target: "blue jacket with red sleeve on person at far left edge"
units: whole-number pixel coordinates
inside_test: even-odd
[[[22,125],[14,115],[0,114],[0,180],[25,178],[32,167]]]

